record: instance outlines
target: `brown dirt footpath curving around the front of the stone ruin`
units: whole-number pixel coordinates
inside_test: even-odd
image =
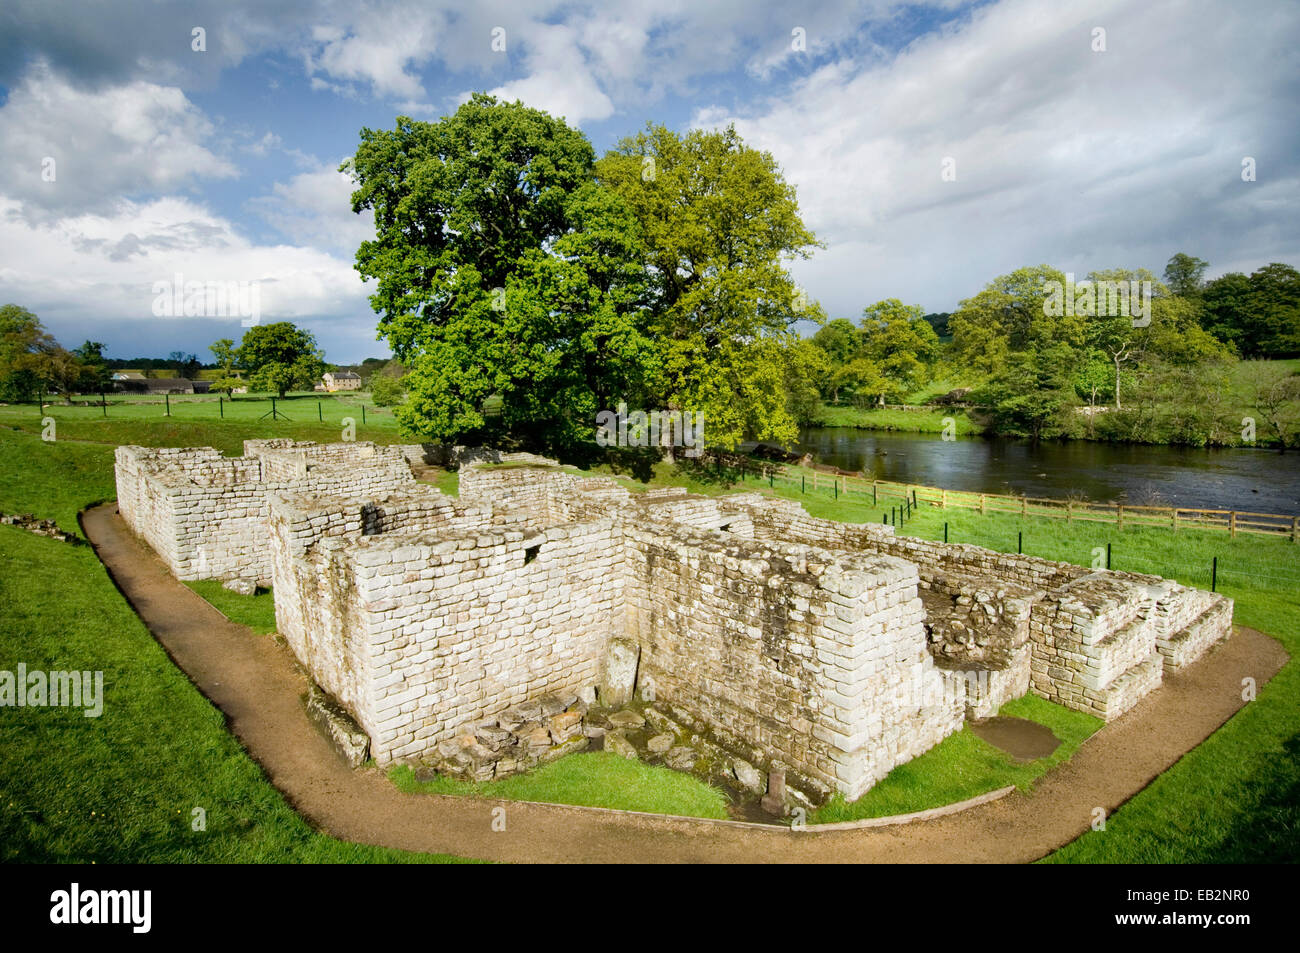
[[[1026,862],[1078,837],[1093,807],[1109,814],[1232,716],[1242,679],[1258,685],[1287,660],[1278,642],[1238,628],[1166,677],[1074,758],[1014,793],[961,814],[896,827],[792,832],[559,805],[403,794],[378,771],[352,771],[307,719],[291,653],[255,636],[178,582],[116,504],[82,527],[131,606],[172,659],[228,716],[230,729],[289,802],[343,840],[515,862]],[[506,805],[506,831],[491,810]]]

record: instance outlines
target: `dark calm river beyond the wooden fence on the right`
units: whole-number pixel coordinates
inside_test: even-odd
[[[1095,503],[1300,514],[1300,452],[1294,450],[945,441],[939,434],[852,426],[809,428],[800,445],[818,463],[868,480],[1056,499],[1082,493]]]

